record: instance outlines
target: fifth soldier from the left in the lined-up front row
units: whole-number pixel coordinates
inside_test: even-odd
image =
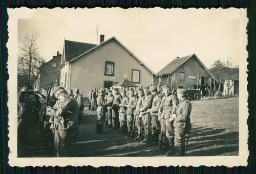
[[[128,128],[128,133],[131,134],[132,127],[133,127],[133,119],[134,118],[134,110],[137,105],[137,99],[134,96],[134,90],[130,89],[129,91],[129,101],[127,106],[127,128]]]

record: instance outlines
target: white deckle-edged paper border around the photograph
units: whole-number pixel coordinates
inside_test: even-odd
[[[122,8],[111,8],[113,12],[122,11]],[[156,8],[159,12],[170,9],[161,9]],[[230,10],[229,9],[210,9],[218,12],[218,10]],[[94,8],[94,9],[61,9],[61,8],[37,8],[37,9],[29,9],[29,8],[15,8],[8,9],[8,32],[9,39],[7,42],[8,47],[8,73],[9,80],[7,83],[8,87],[8,131],[9,131],[9,165],[10,166],[83,166],[83,165],[91,165],[94,167],[100,166],[126,166],[131,165],[134,167],[142,167],[142,166],[246,166],[247,159],[249,156],[248,151],[248,91],[247,91],[247,57],[248,53],[246,51],[247,45],[247,12],[246,9],[241,9],[243,21],[246,23],[245,26],[240,27],[239,29],[239,37],[242,37],[241,45],[244,46],[244,52],[247,53],[247,57],[243,57],[239,60],[240,67],[240,81],[239,81],[239,156],[214,156],[214,157],[82,157],[82,158],[17,158],[17,54],[18,54],[18,32],[17,32],[17,20],[19,18],[33,18],[33,13],[35,11],[45,12],[52,11],[54,13],[73,13],[74,11],[82,11],[82,10],[91,10],[97,11],[98,13],[104,13],[102,8]],[[142,8],[130,8],[126,9],[131,11],[131,13],[140,13],[141,11],[149,11],[151,9],[142,9]],[[195,8],[190,9],[176,9],[176,10],[195,10]],[[197,10],[209,10],[209,9],[197,9]],[[40,14],[40,13],[39,13]],[[43,14],[43,13],[42,13]],[[37,16],[40,18],[40,15]],[[242,54],[242,53],[241,53]]]

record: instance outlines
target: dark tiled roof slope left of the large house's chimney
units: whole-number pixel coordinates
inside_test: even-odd
[[[75,42],[71,40],[65,40],[64,45],[66,61],[70,61],[71,59],[96,46],[95,44],[91,43]]]

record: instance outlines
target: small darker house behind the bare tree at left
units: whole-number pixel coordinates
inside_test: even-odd
[[[60,78],[60,61],[61,54],[57,52],[56,56],[53,56],[51,60],[43,63],[40,66],[40,73],[38,79],[34,84],[35,90],[41,90],[42,88],[49,88],[52,78],[54,78],[54,86],[59,85]]]

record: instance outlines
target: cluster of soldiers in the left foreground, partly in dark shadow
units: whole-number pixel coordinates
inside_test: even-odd
[[[56,157],[69,157],[78,134],[83,111],[79,89],[68,94],[61,86],[41,93],[23,87],[18,94],[18,156],[26,153],[30,128],[39,125],[38,135],[47,152]]]

